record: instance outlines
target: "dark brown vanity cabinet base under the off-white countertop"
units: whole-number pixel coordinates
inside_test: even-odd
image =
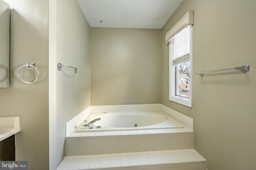
[[[15,135],[0,141],[0,160],[15,160]]]

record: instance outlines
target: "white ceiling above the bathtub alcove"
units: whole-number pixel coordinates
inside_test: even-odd
[[[91,27],[161,29],[183,0],[77,0],[77,2]]]

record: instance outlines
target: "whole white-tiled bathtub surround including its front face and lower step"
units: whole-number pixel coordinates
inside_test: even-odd
[[[74,133],[82,114],[129,110],[161,110],[184,128]],[[162,104],[90,106],[66,127],[66,156],[57,170],[207,170],[193,149],[193,119]]]

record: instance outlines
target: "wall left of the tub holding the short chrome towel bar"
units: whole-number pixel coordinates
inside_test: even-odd
[[[77,1],[50,2],[50,169],[65,155],[66,122],[90,106],[90,25]],[[57,63],[78,68],[57,70]],[[52,103],[51,103],[52,102]]]

